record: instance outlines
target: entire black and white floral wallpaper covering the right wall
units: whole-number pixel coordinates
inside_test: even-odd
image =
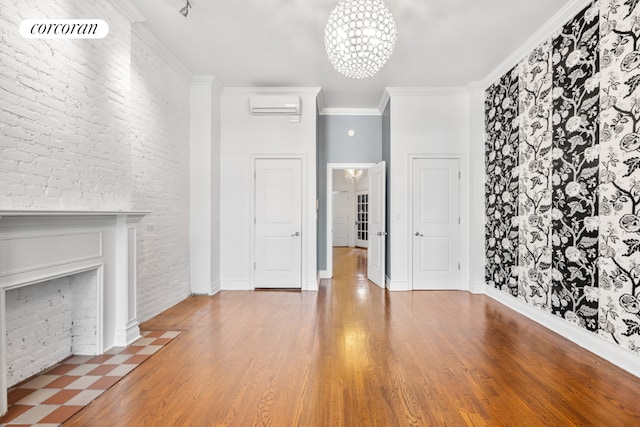
[[[594,1],[485,113],[487,283],[640,353],[640,0]]]

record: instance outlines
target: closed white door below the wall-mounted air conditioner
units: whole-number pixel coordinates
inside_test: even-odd
[[[302,287],[302,161],[256,159],[256,288]]]

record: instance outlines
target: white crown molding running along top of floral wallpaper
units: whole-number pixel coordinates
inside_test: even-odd
[[[559,31],[563,25],[565,25],[571,18],[576,16],[578,12],[587,7],[593,0],[571,0],[555,15],[551,17],[538,31],[536,31],[531,37],[527,39],[515,52],[509,55],[500,65],[498,65],[492,72],[482,80],[484,88],[491,86],[502,75],[507,73],[510,69],[516,66],[522,58],[531,53],[533,49],[538,47],[541,43],[551,38],[557,31]]]

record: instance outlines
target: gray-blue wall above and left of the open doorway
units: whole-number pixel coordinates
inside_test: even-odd
[[[356,131],[354,137],[347,131]],[[320,116],[318,122],[318,270],[327,268],[327,164],[382,160],[381,116]]]

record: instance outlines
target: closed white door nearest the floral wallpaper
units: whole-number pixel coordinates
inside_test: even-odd
[[[413,160],[413,289],[460,289],[457,159]]]

